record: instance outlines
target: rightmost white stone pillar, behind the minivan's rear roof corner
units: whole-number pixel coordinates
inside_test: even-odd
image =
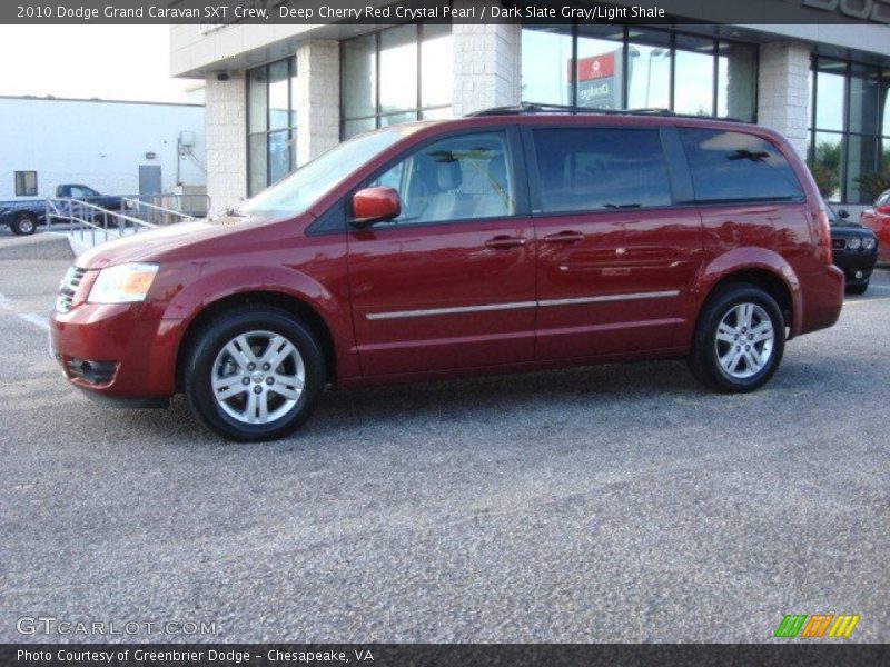
[[[758,122],[788,137],[807,157],[810,47],[777,41],[760,47]]]

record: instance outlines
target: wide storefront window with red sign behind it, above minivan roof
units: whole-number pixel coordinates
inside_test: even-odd
[[[756,63],[754,44],[681,30],[523,26],[522,101],[753,121]]]

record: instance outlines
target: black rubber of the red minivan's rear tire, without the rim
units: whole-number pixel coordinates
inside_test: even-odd
[[[767,366],[750,378],[730,378],[720,367],[714,339],[721,320],[732,308],[744,302],[756,303],[772,320],[775,332],[772,356]],[[784,345],[785,322],[775,300],[756,287],[735,286],[716,295],[706,307],[696,332],[694,355],[699,368],[706,375],[706,382],[711,387],[725,392],[745,392],[753,391],[770,380],[782,361]]]

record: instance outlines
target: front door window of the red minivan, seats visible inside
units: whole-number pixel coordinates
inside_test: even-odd
[[[505,132],[474,132],[431,143],[370,186],[398,192],[402,215],[382,225],[501,218],[516,212]]]

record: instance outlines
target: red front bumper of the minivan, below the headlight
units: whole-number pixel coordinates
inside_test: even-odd
[[[141,303],[80,303],[50,318],[50,350],[77,388],[121,404],[176,392],[178,321],[142,319]]]

